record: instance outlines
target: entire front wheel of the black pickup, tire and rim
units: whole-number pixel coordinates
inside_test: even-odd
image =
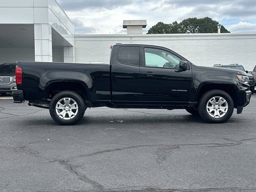
[[[234,102],[229,94],[222,90],[210,90],[200,99],[198,112],[209,123],[223,123],[234,111]]]

